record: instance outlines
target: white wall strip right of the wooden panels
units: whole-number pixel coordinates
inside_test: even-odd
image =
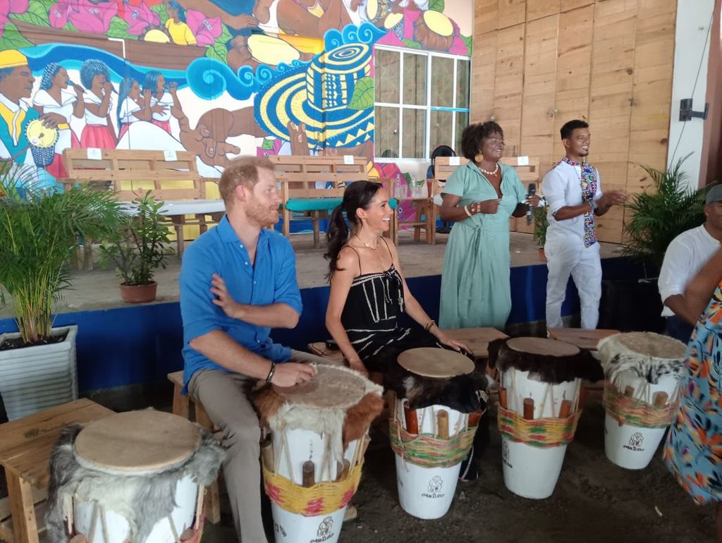
[[[689,184],[697,188],[700,184],[700,160],[704,123],[701,118],[692,121],[679,121],[679,100],[692,98],[693,109],[703,111],[707,93],[707,64],[710,51],[710,22],[715,0],[679,0],[677,2],[677,29],[674,47],[674,79],[672,82],[671,115],[669,121],[669,164],[692,152],[684,161],[684,170],[689,175]],[[705,44],[706,41],[706,44]],[[700,57],[702,66],[700,68]],[[695,87],[697,69],[700,75]],[[695,94],[692,95],[692,88]],[[710,97],[711,99],[711,97]],[[682,130],[684,129],[684,133]],[[680,140],[680,134],[682,139]],[[679,147],[677,147],[679,142]],[[677,147],[677,152],[674,152]],[[674,156],[673,156],[674,153]]]

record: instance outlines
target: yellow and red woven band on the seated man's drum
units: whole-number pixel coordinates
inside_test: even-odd
[[[357,464],[342,481],[319,482],[313,487],[302,487],[271,472],[263,466],[266,495],[280,508],[303,516],[328,515],[339,511],[354,497],[361,481],[361,468]]]

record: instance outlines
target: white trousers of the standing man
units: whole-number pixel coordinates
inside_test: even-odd
[[[601,298],[601,261],[599,243],[584,247],[580,238],[547,240],[547,328],[562,327],[562,303],[567,292],[569,276],[579,292],[581,326],[595,329],[599,322]]]

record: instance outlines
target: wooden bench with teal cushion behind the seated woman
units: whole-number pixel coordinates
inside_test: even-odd
[[[369,179],[364,157],[310,157],[303,155],[271,155],[276,166],[276,178],[281,183],[282,232],[288,237],[291,233],[291,220],[294,214],[304,214],[313,222],[313,246],[321,245],[319,221],[326,219],[334,207],[341,204],[347,183],[353,181],[386,182],[389,180]],[[324,183],[324,188],[316,188],[316,183]],[[393,236],[396,222],[391,222]]]

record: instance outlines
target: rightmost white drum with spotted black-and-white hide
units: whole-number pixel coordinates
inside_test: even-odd
[[[604,394],[604,452],[612,463],[625,469],[644,469],[664,438],[674,406],[679,400],[679,374],[685,346],[668,336],[650,332],[615,334],[599,342],[599,354],[607,375]],[[631,407],[616,407],[617,397],[635,400]],[[661,401],[660,401],[661,400]],[[660,427],[643,425],[643,409],[665,409],[669,421]],[[627,412],[622,412],[627,409]],[[635,411],[635,412],[633,412]],[[628,421],[632,415],[640,425]]]

